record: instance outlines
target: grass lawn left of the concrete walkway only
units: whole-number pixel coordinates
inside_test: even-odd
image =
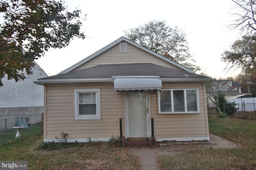
[[[138,158],[131,150],[112,147],[108,143],[77,145],[77,148],[73,146],[72,150],[66,151],[35,149],[43,140],[40,128],[40,125],[33,125],[22,129],[18,139],[11,134],[13,140],[1,145],[0,160],[28,161],[29,170],[140,169]]]

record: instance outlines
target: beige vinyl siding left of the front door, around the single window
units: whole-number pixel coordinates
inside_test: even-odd
[[[44,139],[55,139],[56,135],[60,138],[62,132],[68,133],[67,139],[119,136],[119,118],[124,118],[124,93],[114,91],[113,86],[113,83],[47,85]],[[100,89],[101,119],[74,120],[74,89],[97,88]]]

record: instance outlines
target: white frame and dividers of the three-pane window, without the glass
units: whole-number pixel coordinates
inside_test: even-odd
[[[160,105],[160,91],[165,91],[165,90],[169,90],[171,91],[171,105],[172,105],[172,111],[170,112],[161,112],[161,105]],[[173,102],[173,91],[175,90],[183,90],[184,91],[184,109],[185,111],[183,112],[174,112],[174,102]],[[186,96],[186,90],[196,90],[196,107],[197,107],[197,111],[188,111],[187,110],[187,96]],[[180,114],[180,113],[200,113],[200,105],[199,105],[199,89],[198,88],[186,88],[186,89],[162,89],[162,90],[158,90],[157,92],[157,96],[158,96],[158,113],[159,114]]]

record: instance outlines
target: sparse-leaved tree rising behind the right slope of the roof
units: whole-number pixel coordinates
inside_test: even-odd
[[[201,70],[194,64],[195,60],[189,52],[186,34],[178,27],[171,28],[166,25],[166,21],[152,20],[139,27],[126,30],[124,33],[128,39],[151,51],[160,55],[167,51],[168,59],[195,72]]]

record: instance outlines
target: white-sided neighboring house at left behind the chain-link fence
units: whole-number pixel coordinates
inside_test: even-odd
[[[36,63],[33,74],[24,81],[2,78],[4,86],[0,87],[0,115],[15,115],[24,113],[42,113],[44,111],[44,86],[34,84],[39,78],[48,75]],[[26,73],[25,73],[26,74]]]

